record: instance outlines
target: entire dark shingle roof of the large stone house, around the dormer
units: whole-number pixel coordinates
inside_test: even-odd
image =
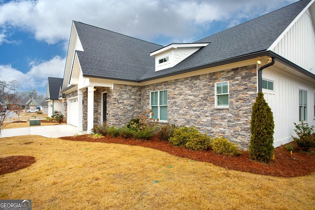
[[[84,52],[77,52],[80,65],[84,76],[141,82],[263,52],[310,1],[295,2],[198,40],[194,43],[210,44],[176,66],[157,72],[150,53],[162,46],[74,21],[84,49]]]

